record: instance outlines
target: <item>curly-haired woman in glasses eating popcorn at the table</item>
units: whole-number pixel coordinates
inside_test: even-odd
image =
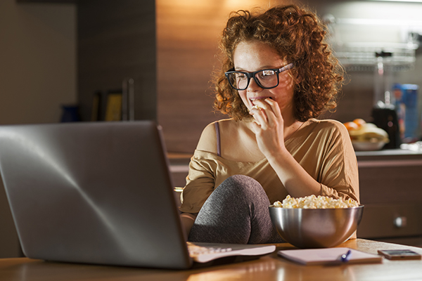
[[[181,220],[196,242],[282,242],[268,206],[286,195],[359,200],[347,130],[317,120],[343,81],[316,15],[298,6],[238,11],[222,34],[215,107],[189,164]]]

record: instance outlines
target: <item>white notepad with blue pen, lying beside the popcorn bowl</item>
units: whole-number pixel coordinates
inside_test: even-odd
[[[340,261],[340,256],[351,250],[350,259],[347,262]],[[382,256],[368,254],[350,248],[324,248],[324,249],[291,249],[278,251],[279,256],[302,263],[307,266],[347,264],[347,263],[380,263]]]

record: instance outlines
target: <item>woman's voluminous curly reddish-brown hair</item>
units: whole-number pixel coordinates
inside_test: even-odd
[[[276,6],[264,13],[241,10],[231,14],[220,42],[223,61],[214,79],[215,109],[235,120],[250,118],[224,72],[234,67],[233,54],[241,41],[260,41],[295,65],[291,70],[295,79],[295,119],[305,122],[335,110],[344,70],[325,36],[326,27],[316,14],[297,5]]]

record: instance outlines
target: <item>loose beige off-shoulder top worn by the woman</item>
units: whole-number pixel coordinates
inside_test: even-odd
[[[321,195],[359,202],[357,159],[343,124],[335,120],[309,119],[285,145],[308,174],[321,183]],[[288,195],[266,158],[259,162],[236,162],[196,150],[189,164],[180,210],[198,213],[212,191],[236,174],[255,178],[267,192],[271,204]]]

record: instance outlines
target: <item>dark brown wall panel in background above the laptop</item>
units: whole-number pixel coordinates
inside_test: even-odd
[[[77,2],[77,84],[84,121],[94,93],[134,79],[135,119],[156,119],[155,1]],[[103,100],[104,101],[104,100]]]

